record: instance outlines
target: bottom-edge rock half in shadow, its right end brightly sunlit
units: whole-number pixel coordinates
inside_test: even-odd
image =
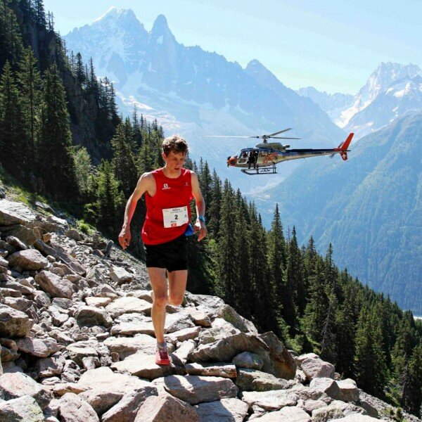
[[[194,409],[200,422],[243,422],[248,414],[248,404],[239,399],[222,399],[217,402],[196,404]]]

